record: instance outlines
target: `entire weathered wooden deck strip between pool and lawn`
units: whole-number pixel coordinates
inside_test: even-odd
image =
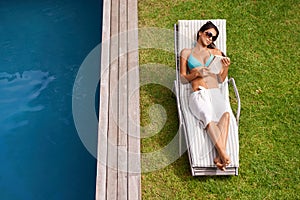
[[[141,199],[137,0],[103,0],[96,199]]]

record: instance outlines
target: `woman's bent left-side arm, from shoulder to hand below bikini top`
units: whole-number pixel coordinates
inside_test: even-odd
[[[202,77],[199,71],[193,71],[192,73],[188,72],[187,60],[191,53],[190,49],[183,49],[180,52],[180,77],[182,83],[188,83],[193,81],[196,78]]]

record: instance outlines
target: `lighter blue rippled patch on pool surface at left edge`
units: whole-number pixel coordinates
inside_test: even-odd
[[[29,120],[22,114],[44,108],[42,102],[34,100],[54,79],[42,71],[0,72],[0,129],[11,130],[28,124]]]

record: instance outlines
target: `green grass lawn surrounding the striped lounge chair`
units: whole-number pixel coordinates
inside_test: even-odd
[[[173,29],[179,19],[226,19],[229,76],[235,78],[242,102],[239,176],[192,177],[185,153],[142,174],[143,199],[300,199],[300,2],[142,0],[138,6],[140,28]],[[175,68],[174,54],[165,50],[144,48],[139,58],[141,67],[159,63]],[[167,79],[171,84],[175,77]],[[142,139],[142,153],[147,153],[176,135],[177,107],[166,87],[148,84],[140,92],[142,126],[161,126],[155,124],[164,113],[149,113],[154,104],[163,106],[167,116],[158,133]]]

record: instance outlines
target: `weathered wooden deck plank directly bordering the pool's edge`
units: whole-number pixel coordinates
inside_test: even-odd
[[[98,150],[97,150],[97,178],[96,200],[106,199],[106,162],[107,162],[107,130],[108,130],[108,90],[109,76],[109,38],[110,38],[110,0],[103,1],[101,66],[100,66],[100,99]]]

